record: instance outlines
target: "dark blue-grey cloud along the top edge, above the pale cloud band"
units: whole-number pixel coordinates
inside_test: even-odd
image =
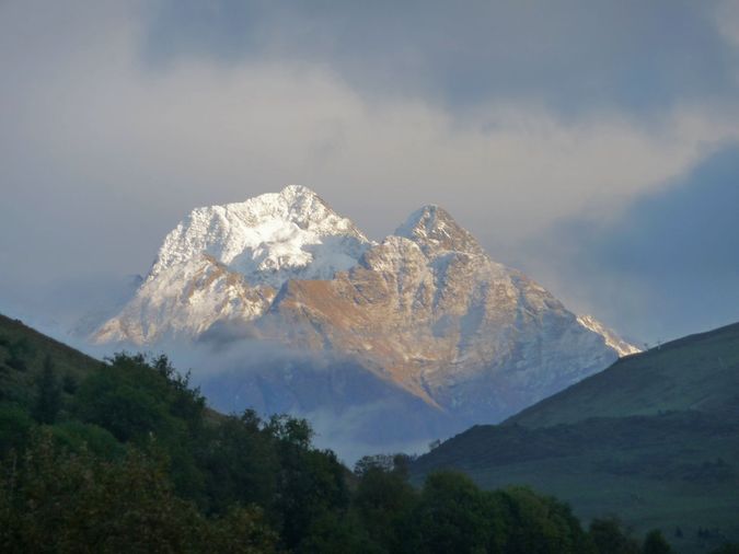
[[[642,113],[737,92],[736,51],[714,2],[166,1],[152,19],[154,67],[181,57],[326,64],[376,94],[457,108],[532,99],[566,113]]]

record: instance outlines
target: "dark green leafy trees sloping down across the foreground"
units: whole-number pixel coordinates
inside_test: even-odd
[[[31,394],[0,399],[0,552],[671,552],[527,488],[452,472],[416,488],[402,454],[351,472],[311,440],[303,419],[209,411],[164,356],[80,382],[47,358]]]

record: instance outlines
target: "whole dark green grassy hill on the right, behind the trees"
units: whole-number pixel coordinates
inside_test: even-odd
[[[528,484],[588,520],[659,527],[678,552],[739,539],[739,324],[622,358],[497,426],[422,457],[497,488]],[[680,532],[676,534],[676,530]]]

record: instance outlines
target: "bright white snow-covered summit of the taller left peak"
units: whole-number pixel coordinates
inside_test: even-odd
[[[308,187],[289,185],[243,203],[196,208],[164,239],[149,279],[207,254],[251,285],[327,279],[370,241]]]

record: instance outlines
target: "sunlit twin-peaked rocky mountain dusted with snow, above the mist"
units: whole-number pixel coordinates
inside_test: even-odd
[[[166,236],[134,299],[93,338],[155,345],[224,334],[345,357],[460,429],[500,420],[637,351],[492,261],[440,207],[422,208],[374,243],[300,186],[194,210]],[[288,373],[241,379],[262,383],[251,390],[267,411],[310,403],[305,383],[297,390]],[[328,404],[351,389],[319,381],[337,386]],[[285,397],[281,389],[292,391],[292,405],[269,405]],[[370,389],[353,395],[360,401]]]

